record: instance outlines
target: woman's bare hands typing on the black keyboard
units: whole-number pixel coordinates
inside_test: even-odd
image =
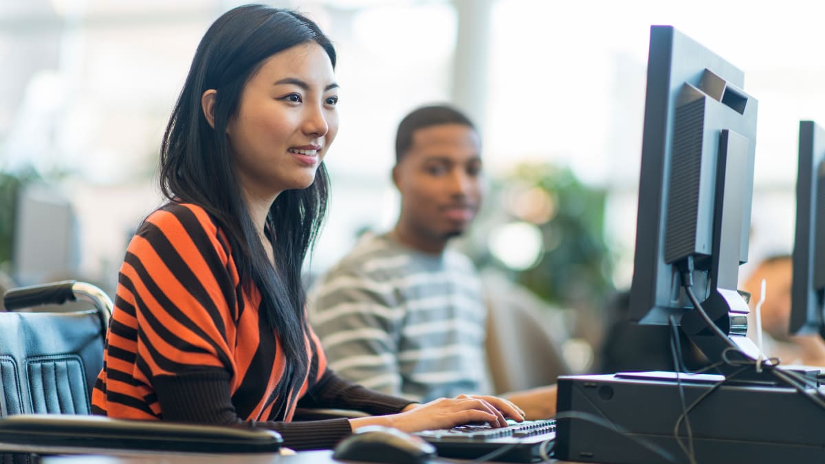
[[[491,427],[505,427],[506,418],[521,422],[524,420],[524,411],[496,396],[458,395],[455,398],[433,400],[424,405],[411,405],[398,414],[350,419],[350,424],[353,430],[365,425],[385,425],[410,433],[451,428],[472,422],[487,422]]]

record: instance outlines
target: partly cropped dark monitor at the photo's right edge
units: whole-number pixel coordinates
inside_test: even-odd
[[[799,121],[791,334],[825,337],[825,131]]]

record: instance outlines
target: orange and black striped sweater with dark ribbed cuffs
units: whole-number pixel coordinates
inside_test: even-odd
[[[248,291],[247,291],[248,289]],[[115,294],[92,410],[124,419],[264,422],[296,449],[332,447],[347,419],[291,422],[296,407],[392,414],[409,404],[343,380],[309,329],[297,398],[278,395],[287,366],[242,286],[226,235],[199,206],[171,203],[134,234]],[[281,395],[283,396],[283,395]]]

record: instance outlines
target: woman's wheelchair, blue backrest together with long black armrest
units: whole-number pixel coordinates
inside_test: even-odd
[[[90,415],[89,399],[103,367],[109,297],[97,286],[74,281],[12,289],[3,296],[7,310],[77,300],[96,309],[0,312],[0,462],[40,462],[31,460],[30,453],[148,451],[172,456],[281,448],[280,433],[255,424],[226,427]]]

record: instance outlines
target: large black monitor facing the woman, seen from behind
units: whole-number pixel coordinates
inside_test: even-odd
[[[651,27],[630,317],[674,320],[712,362],[733,344],[757,354],[737,291],[757,130],[757,100],[743,84],[744,73],[705,46]],[[684,277],[727,340],[695,310]]]

